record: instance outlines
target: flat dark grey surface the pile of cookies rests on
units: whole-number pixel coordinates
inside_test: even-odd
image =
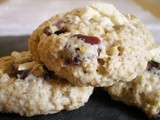
[[[0,56],[8,55],[11,51],[26,50],[27,36],[0,37]],[[147,120],[146,115],[139,109],[128,107],[121,102],[111,100],[109,95],[100,88],[94,91],[89,102],[80,109],[70,112],[60,112],[52,115],[35,117],[20,117],[17,114],[0,113],[0,120]]]

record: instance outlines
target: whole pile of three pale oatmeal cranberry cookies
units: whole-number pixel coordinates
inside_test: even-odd
[[[0,111],[56,113],[83,106],[94,87],[160,112],[160,53],[133,15],[93,3],[55,15],[29,38],[29,51],[0,59]]]

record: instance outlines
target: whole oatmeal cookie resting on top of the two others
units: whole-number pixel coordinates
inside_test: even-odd
[[[75,85],[92,86],[134,79],[145,70],[152,44],[136,17],[101,3],[56,15],[29,39],[35,60]]]

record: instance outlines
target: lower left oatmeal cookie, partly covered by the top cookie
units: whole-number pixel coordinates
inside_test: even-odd
[[[0,111],[22,116],[83,106],[93,87],[77,87],[32,60],[29,52],[0,58]]]

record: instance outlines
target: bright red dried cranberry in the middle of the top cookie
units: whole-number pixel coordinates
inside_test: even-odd
[[[77,38],[80,38],[84,42],[89,43],[91,45],[99,44],[101,42],[101,40],[96,36],[87,36],[87,35],[82,35],[82,34],[76,34],[74,36]]]

